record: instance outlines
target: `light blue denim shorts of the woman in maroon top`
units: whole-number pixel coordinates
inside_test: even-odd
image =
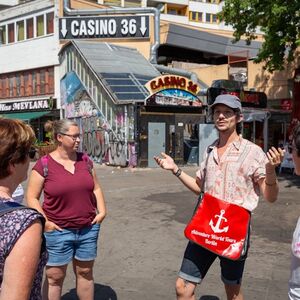
[[[49,253],[47,266],[63,266],[73,258],[91,261],[97,257],[100,224],[82,229],[63,229],[44,232]]]

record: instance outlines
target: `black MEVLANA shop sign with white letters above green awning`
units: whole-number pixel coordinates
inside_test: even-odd
[[[51,110],[54,108],[54,99],[30,100],[19,102],[0,103],[0,112]]]

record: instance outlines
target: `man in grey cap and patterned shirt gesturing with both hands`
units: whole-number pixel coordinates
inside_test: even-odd
[[[219,139],[205,152],[196,178],[178,168],[165,153],[154,158],[157,164],[171,171],[195,194],[199,195],[201,191],[209,193],[248,212],[256,208],[260,194],[265,200],[274,202],[278,195],[275,168],[284,151],[272,147],[265,154],[259,146],[238,134],[243,116],[240,99],[236,96],[218,96],[211,106],[211,113]],[[195,299],[197,284],[202,282],[217,257],[227,299],[243,299],[241,282],[246,255],[240,260],[230,260],[189,242],[176,281],[178,300]]]

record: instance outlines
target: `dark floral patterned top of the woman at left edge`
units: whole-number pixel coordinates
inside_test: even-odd
[[[0,198],[0,201],[7,201],[7,199]],[[3,270],[6,257],[9,255],[14,244],[22,233],[37,219],[42,220],[43,216],[30,208],[16,209],[0,216],[0,288],[3,280]],[[41,285],[43,269],[46,265],[47,259],[48,253],[43,243],[38,269],[29,298],[30,300],[42,299]]]

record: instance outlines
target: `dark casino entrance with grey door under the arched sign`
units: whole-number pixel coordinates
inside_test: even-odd
[[[138,165],[157,167],[153,156],[161,152],[170,155],[178,165],[197,165],[199,123],[204,123],[201,114],[140,111]]]

